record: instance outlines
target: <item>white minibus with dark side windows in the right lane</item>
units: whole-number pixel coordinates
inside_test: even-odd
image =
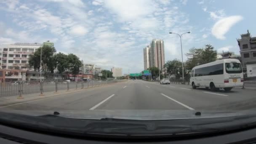
[[[190,75],[192,88],[205,87],[211,91],[243,86],[243,71],[237,59],[221,59],[192,68]]]

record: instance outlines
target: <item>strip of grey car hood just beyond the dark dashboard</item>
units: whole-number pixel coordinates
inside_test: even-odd
[[[4,112],[40,116],[53,115],[55,111],[8,110]],[[79,119],[115,118],[126,120],[176,120],[194,118],[230,117],[255,114],[254,110],[246,111],[206,111],[206,110],[57,110],[58,116]],[[200,115],[195,115],[200,112]],[[198,113],[197,113],[198,114]]]

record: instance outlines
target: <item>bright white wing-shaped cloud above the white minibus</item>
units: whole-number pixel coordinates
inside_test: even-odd
[[[229,29],[242,19],[242,16],[229,16],[220,19],[213,25],[211,29],[212,35],[214,35],[217,39],[224,40],[224,35],[229,31]]]

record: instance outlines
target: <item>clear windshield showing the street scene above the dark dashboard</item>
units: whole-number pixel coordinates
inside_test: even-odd
[[[0,112],[106,123],[251,112],[255,5],[0,0]]]

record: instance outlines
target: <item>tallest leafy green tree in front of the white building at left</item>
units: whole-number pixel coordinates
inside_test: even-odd
[[[48,45],[43,45],[43,47],[38,48],[33,55],[30,55],[29,66],[33,67],[35,70],[40,71],[41,49],[42,49],[42,71],[45,73],[45,76],[47,76],[47,73],[50,73],[50,72],[53,73],[54,68],[56,66],[54,56],[53,56],[54,53],[56,53],[55,48]]]

